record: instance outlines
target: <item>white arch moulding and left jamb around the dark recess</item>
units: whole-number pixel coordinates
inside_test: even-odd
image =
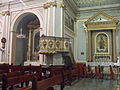
[[[12,23],[11,23],[11,31],[12,31],[12,33],[11,33],[11,37],[10,37],[10,40],[11,40],[10,53],[11,53],[11,55],[10,55],[10,62],[9,63],[16,62],[16,60],[15,60],[16,59],[16,57],[15,57],[16,56],[16,54],[15,54],[16,48],[13,49],[12,47],[15,47],[15,44],[16,44],[16,38],[15,38],[15,36],[16,36],[16,32],[17,32],[17,27],[18,27],[20,21],[24,17],[26,17],[26,16],[28,16],[30,14],[33,14],[33,15],[35,15],[38,18],[38,20],[40,22],[40,28],[43,28],[43,18],[42,18],[42,15],[41,15],[40,11],[38,11],[38,10],[26,10],[26,11],[22,11],[22,12],[18,13],[14,17],[14,19],[11,20],[12,21]]]

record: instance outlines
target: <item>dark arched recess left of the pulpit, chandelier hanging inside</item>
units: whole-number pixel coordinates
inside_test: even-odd
[[[14,24],[12,63],[39,60],[40,21],[33,13],[24,13]]]

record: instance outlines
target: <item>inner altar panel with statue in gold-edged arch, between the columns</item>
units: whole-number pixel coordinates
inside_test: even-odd
[[[112,61],[112,30],[92,31],[92,59],[97,62]]]

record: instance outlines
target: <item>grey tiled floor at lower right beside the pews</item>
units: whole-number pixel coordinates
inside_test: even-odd
[[[57,87],[57,90],[60,89]],[[64,90],[120,90],[120,81],[84,78],[75,81],[72,86],[66,86]]]

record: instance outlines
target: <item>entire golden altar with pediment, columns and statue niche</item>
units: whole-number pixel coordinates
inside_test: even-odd
[[[116,62],[116,28],[118,20],[98,12],[85,22],[87,60],[89,62]]]

